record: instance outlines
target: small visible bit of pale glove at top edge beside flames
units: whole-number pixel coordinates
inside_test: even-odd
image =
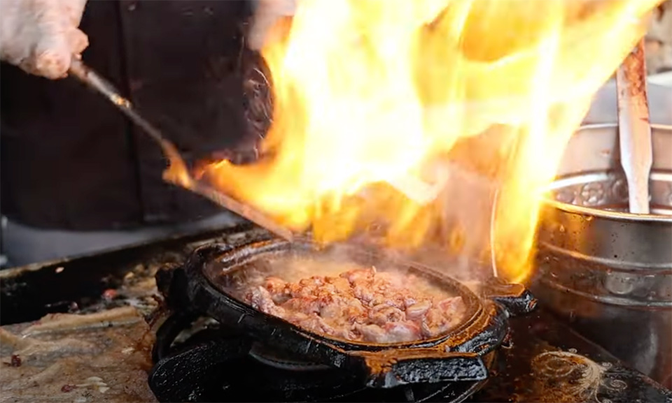
[[[4,1],[4,0],[0,0]],[[296,11],[298,0],[257,0],[247,45],[251,50],[260,50],[267,41],[269,31],[282,17],[290,17]]]

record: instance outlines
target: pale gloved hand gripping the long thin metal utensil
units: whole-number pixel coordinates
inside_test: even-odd
[[[0,0],[0,59],[27,73],[66,76],[89,45],[78,29],[86,0]]]

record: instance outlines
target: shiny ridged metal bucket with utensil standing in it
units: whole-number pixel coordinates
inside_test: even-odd
[[[652,214],[635,215],[626,212],[617,126],[575,133],[542,206],[533,292],[672,388],[672,126],[654,126],[652,138]]]

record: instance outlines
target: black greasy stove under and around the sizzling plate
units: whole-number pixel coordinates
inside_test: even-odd
[[[8,271],[0,276],[0,324],[130,303],[123,298],[129,281],[143,284],[158,268],[179,267],[203,245],[261,238],[268,235],[246,225]],[[110,290],[120,297],[106,298]],[[147,298],[133,295],[133,303],[146,302],[148,320],[155,319],[156,293],[151,288]],[[351,372],[262,345],[208,315],[166,307],[160,312],[165,321],[148,382],[161,402],[672,402],[671,390],[629,369],[544,307],[507,319],[506,342],[482,356],[486,379],[393,388],[364,387]]]

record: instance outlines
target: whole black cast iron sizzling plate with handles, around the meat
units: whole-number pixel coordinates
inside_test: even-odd
[[[340,245],[339,247],[344,247]],[[451,295],[459,295],[467,307],[461,324],[434,339],[400,344],[370,344],[328,337],[309,332],[279,317],[265,314],[225,291],[225,276],[241,269],[244,263],[279,254],[316,256],[325,253],[308,242],[269,240],[232,248],[213,244],[195,251],[173,276],[171,295],[183,295],[187,306],[208,314],[221,323],[237,327],[274,349],[304,360],[349,370],[363,378],[365,385],[392,388],[401,384],[440,381],[480,381],[488,373],[482,356],[505,342],[509,314],[524,314],[535,307],[535,300],[518,284],[494,280],[484,286],[479,298],[466,286],[428,268],[391,260],[375,251],[347,247],[349,258],[360,265],[378,268],[403,268],[426,277]],[[329,249],[329,248],[326,248]],[[177,280],[177,281],[176,281]],[[184,281],[186,280],[186,281]],[[184,288],[176,290],[174,288]],[[183,292],[180,292],[183,291]],[[184,292],[186,291],[186,292]]]

